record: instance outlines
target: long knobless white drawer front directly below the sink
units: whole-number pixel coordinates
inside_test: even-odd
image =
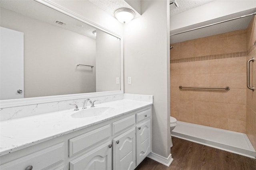
[[[70,139],[69,157],[82,150],[88,149],[92,145],[97,145],[97,143],[107,139],[110,135],[110,125],[106,125]]]

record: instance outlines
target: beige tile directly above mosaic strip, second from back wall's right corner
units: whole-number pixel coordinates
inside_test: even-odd
[[[228,38],[210,41],[210,55],[226,54],[228,53]]]

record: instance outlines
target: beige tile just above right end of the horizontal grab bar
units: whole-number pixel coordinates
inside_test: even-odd
[[[210,87],[226,87],[228,83],[228,73],[210,74]]]

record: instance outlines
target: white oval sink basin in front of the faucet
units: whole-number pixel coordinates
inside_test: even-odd
[[[92,107],[87,109],[82,109],[73,113],[71,117],[73,118],[87,118],[87,117],[97,117],[103,115],[104,113],[110,111],[112,107]]]

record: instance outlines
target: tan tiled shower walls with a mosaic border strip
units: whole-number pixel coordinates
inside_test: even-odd
[[[170,114],[178,121],[246,133],[256,149],[256,91],[246,87],[246,62],[256,57],[255,40],[253,16],[246,29],[171,44]],[[250,72],[256,86],[255,62]]]

